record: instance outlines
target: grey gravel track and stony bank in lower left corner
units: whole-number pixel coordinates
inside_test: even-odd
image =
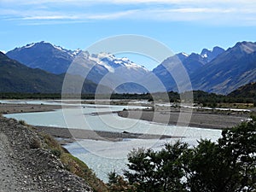
[[[35,131],[15,119],[0,117],[0,190],[93,191],[68,172]]]

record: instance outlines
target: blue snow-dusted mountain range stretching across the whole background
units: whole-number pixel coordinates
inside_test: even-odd
[[[159,84],[154,84],[156,81],[160,81],[166,90],[178,90],[172,76],[181,76],[178,80],[183,78],[177,67],[179,63],[187,72],[193,90],[228,94],[243,84],[256,81],[256,43],[252,42],[240,42],[227,50],[214,47],[212,50],[202,49],[201,54],[172,55],[153,71],[128,58],[68,50],[45,42],[27,44],[6,55],[26,67],[40,68],[57,76],[67,73],[71,64],[79,64],[70,67],[73,70],[69,68],[69,73],[81,78],[85,78],[85,74],[94,84],[102,84],[116,92],[142,93],[148,91],[148,87],[150,92],[162,91]]]

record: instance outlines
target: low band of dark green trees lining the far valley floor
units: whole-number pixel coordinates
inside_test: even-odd
[[[193,102],[189,100],[189,92],[183,93],[183,98],[188,98],[187,102]],[[81,99],[106,99],[107,95],[94,94],[82,94],[81,96],[67,96],[67,98],[81,98]],[[168,98],[169,97],[169,98]],[[180,95],[177,92],[168,92],[166,101],[166,93],[143,93],[143,94],[117,94],[113,93],[110,99],[112,100],[148,100],[149,102],[180,102]],[[229,96],[217,95],[214,93],[207,93],[202,90],[193,91],[193,99],[195,103],[201,105],[201,107],[211,108],[253,108],[256,107],[256,96],[235,96],[231,94]],[[58,93],[0,93],[1,99],[61,99],[61,94]],[[169,101],[168,101],[169,99]],[[183,101],[186,102],[186,101]],[[114,104],[114,102],[112,103]]]

